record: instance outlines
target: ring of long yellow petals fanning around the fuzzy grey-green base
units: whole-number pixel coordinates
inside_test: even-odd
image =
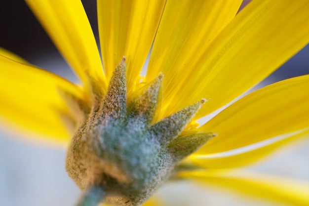
[[[237,15],[241,0],[98,0],[104,73],[80,1],[26,1],[82,86],[1,50],[0,114],[7,123],[68,145],[84,118],[100,111],[96,106],[111,94],[108,82],[126,56],[126,66],[123,61],[119,70],[126,67],[128,102],[143,93],[145,84],[161,80],[160,75],[156,78],[158,74],[164,75],[162,95],[155,100],[161,105],[154,122],[206,99],[200,109],[190,108],[194,114],[199,110],[177,135],[218,135],[183,160],[186,169],[177,168],[174,176],[213,182],[291,205],[309,204],[309,185],[304,182],[296,185],[284,178],[231,169],[308,135],[309,76],[257,90],[200,127],[194,122],[261,82],[309,42],[308,0],[254,0]],[[141,82],[139,74],[152,43],[145,82]],[[180,140],[185,144],[174,142],[173,151],[189,149],[188,140]],[[110,172],[126,182],[126,174],[121,176],[113,164]],[[289,190],[292,186],[295,188]]]

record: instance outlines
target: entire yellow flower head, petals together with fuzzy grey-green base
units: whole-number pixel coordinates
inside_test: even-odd
[[[204,168],[251,163],[309,132],[308,76],[257,90],[195,124],[308,43],[307,0],[253,1],[237,15],[241,0],[98,0],[104,73],[80,1],[27,3],[82,86],[1,50],[1,86],[9,86],[1,115],[62,143],[73,136],[66,169],[98,203],[140,205],[171,176],[232,181],[228,170]],[[267,144],[246,150],[260,142]],[[298,192],[287,199],[308,201]]]

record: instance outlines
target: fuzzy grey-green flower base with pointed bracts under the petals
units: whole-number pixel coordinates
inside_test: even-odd
[[[127,102],[125,69],[123,58],[105,97],[74,136],[66,169],[81,189],[101,187],[105,203],[138,206],[212,134],[183,131],[205,100],[153,123],[163,75],[133,92]]]

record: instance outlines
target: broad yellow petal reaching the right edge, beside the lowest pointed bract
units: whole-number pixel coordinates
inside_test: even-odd
[[[218,133],[198,154],[213,154],[309,127],[309,75],[277,82],[233,103],[199,130]]]

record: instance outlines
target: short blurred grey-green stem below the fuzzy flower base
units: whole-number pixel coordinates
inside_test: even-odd
[[[103,188],[93,185],[83,192],[77,206],[99,206],[104,197]]]

